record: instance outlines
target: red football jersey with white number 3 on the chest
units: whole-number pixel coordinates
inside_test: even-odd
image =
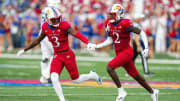
[[[52,43],[54,52],[64,51],[70,48],[67,33],[69,28],[70,24],[67,21],[62,21],[57,28],[50,27],[47,22],[42,25],[42,32],[46,34]]]

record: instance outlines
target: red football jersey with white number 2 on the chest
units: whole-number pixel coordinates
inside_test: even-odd
[[[132,25],[130,19],[121,19],[116,25],[106,22],[106,30],[113,39],[116,52],[130,48],[130,32],[127,32],[127,29]]]

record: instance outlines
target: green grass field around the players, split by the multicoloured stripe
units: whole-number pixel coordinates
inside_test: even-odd
[[[94,69],[103,80],[111,80],[106,72],[107,62],[77,61],[80,73]],[[136,63],[140,74],[144,75],[141,63]],[[179,64],[150,63],[154,76],[145,77],[147,81],[180,82]],[[134,81],[125,76],[122,68],[117,69],[122,81]],[[40,59],[0,58],[0,80],[39,80]],[[70,80],[64,69],[61,80]],[[150,95],[142,88],[125,88],[128,96],[124,101],[152,101]],[[180,90],[159,89],[159,101],[180,101]],[[115,101],[117,89],[110,87],[64,86],[63,92],[68,101]],[[0,101],[58,101],[52,87],[41,86],[0,86]]]

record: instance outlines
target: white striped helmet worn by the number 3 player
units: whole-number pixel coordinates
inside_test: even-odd
[[[49,7],[46,10],[46,19],[49,25],[58,27],[62,20],[62,14],[58,8]]]

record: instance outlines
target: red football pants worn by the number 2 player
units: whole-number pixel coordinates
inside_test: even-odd
[[[122,66],[129,75],[136,77],[138,71],[133,63],[133,50],[132,48],[125,49],[120,52],[116,52],[116,57],[114,57],[109,63],[108,66],[111,68],[118,68]]]

